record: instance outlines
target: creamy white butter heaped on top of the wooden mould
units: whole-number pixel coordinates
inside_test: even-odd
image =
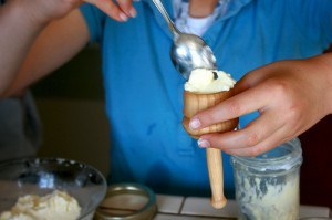
[[[185,91],[210,94],[229,91],[235,84],[236,81],[230,74],[222,71],[195,69],[185,84]]]

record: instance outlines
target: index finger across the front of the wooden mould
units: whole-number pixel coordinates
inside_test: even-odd
[[[268,107],[271,98],[271,94],[267,95],[267,91],[269,88],[264,84],[247,90],[198,113],[190,119],[189,126],[191,129],[199,129],[255,111],[262,111]]]

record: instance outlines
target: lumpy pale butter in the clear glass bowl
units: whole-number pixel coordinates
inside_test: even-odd
[[[55,190],[44,197],[20,197],[10,211],[2,212],[0,220],[75,220],[81,207],[66,192]]]

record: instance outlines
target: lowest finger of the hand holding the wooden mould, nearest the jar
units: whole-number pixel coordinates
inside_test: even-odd
[[[259,143],[258,145],[255,145],[252,147],[247,148],[227,148],[224,149],[226,154],[229,155],[237,155],[242,157],[253,157],[260,154],[263,154],[270,149],[273,149],[274,147],[281,145],[282,143],[286,143],[293,137],[286,137],[283,128],[280,128],[277,130],[272,136],[268,137],[263,142]]]

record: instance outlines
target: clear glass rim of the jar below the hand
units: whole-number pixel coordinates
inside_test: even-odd
[[[272,156],[278,151],[278,156]],[[257,157],[231,156],[231,164],[253,172],[291,170],[302,164],[301,143],[294,138]]]

